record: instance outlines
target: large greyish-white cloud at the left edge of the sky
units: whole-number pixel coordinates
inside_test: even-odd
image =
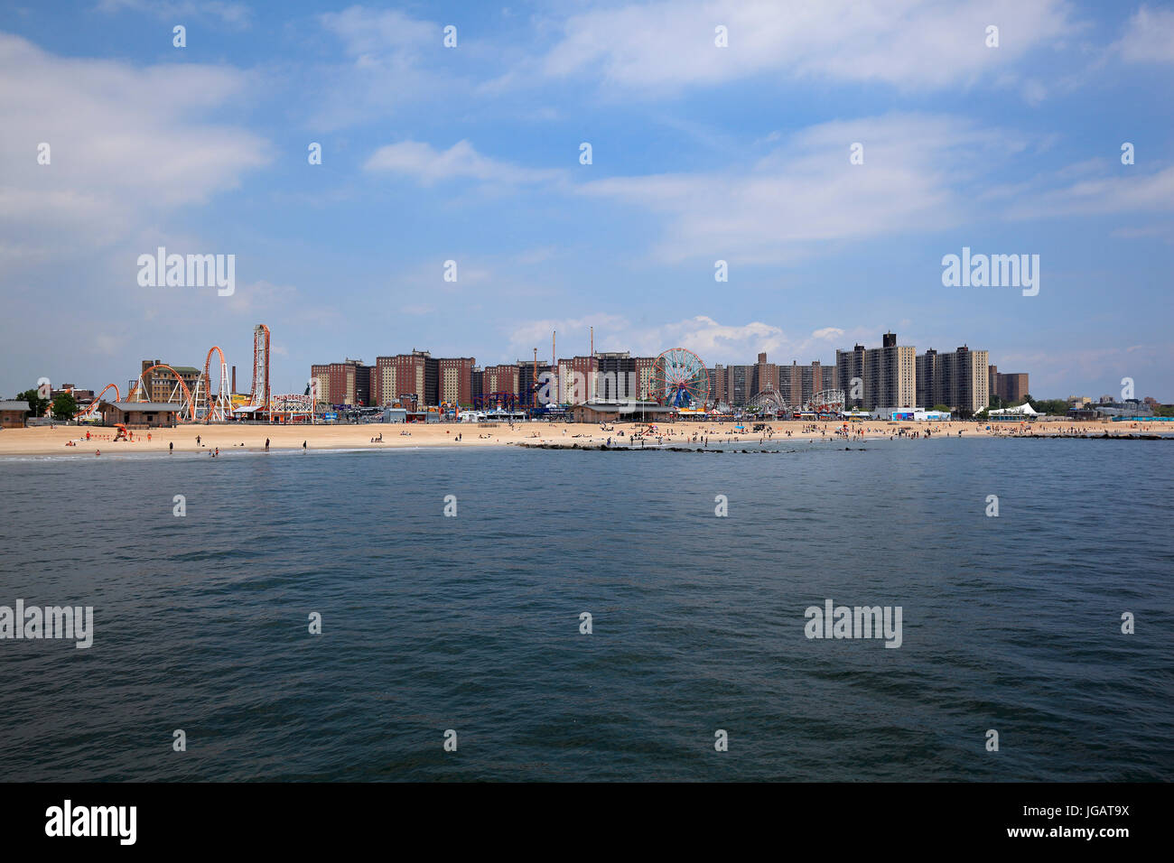
[[[229,68],[62,59],[0,34],[0,225],[31,249],[86,250],[235,187],[269,144],[201,117],[245,86]]]

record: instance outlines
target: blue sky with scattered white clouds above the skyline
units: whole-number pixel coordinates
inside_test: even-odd
[[[1172,402],[1172,106],[1169,4],[6,4],[0,393],[214,344],[248,390],[263,322],[275,392],[552,329],[709,364],[891,329]],[[158,245],[235,255],[236,292],[140,286]],[[943,286],[963,247],[1039,255],[1038,296]]]

